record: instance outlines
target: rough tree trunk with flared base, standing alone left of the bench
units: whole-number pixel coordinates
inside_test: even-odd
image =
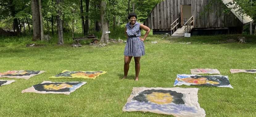
[[[59,41],[58,41],[58,45],[64,45],[64,40],[63,40],[63,22],[61,20],[61,16],[62,16],[62,12],[61,12],[61,5],[63,3],[63,0],[56,0],[56,3],[59,7],[59,10],[57,10],[57,24],[58,24],[58,36],[59,36]]]

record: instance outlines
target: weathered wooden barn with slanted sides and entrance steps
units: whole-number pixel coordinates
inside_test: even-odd
[[[235,10],[225,14],[224,5],[231,0],[223,2],[214,2],[211,6],[212,12],[206,11],[205,15],[200,15],[204,11],[204,7],[211,0],[164,0],[155,5],[144,22],[153,30],[153,34],[169,33],[172,36],[182,37],[184,33],[192,35],[217,34],[217,33],[242,33],[243,26],[252,23],[250,17],[243,16],[241,19]],[[225,6],[230,8],[231,5]],[[236,17],[236,18],[235,18]],[[174,33],[175,32],[175,33]],[[174,33],[174,34],[173,34]]]

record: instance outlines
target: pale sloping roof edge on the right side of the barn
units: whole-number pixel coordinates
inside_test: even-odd
[[[223,3],[226,5],[227,3],[232,2],[232,0],[223,0]],[[226,5],[227,6],[227,5]],[[233,8],[235,5],[228,5],[228,8]],[[243,15],[243,18],[240,18],[240,16],[236,13],[238,9],[231,9],[231,12],[244,24],[250,24],[250,22],[253,22],[253,19],[250,16]]]

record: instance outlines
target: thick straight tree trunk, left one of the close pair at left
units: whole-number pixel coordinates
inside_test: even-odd
[[[39,13],[39,4],[37,0],[31,0],[31,13],[32,13],[32,24],[33,24],[32,41],[37,41],[38,39],[41,39],[40,13]]]

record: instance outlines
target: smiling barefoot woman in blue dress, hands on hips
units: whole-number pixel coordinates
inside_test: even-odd
[[[136,22],[137,14],[131,12],[128,15],[128,19],[130,19],[130,23],[125,25],[125,35],[127,37],[127,42],[124,50],[124,78],[127,78],[127,73],[129,71],[129,64],[131,62],[132,57],[134,57],[135,61],[135,81],[138,81],[139,71],[140,71],[140,57],[145,55],[145,47],[143,41],[147,38],[147,35],[150,32],[150,29],[143,24]],[[141,29],[147,31],[143,38],[141,36]]]

